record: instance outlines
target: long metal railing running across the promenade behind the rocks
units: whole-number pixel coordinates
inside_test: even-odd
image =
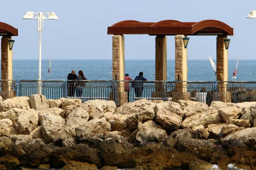
[[[192,81],[118,81],[118,80],[0,80],[0,96],[38,94],[39,89],[47,99],[61,97],[113,100],[116,105],[137,99],[204,102],[256,101],[256,82],[192,82]]]

